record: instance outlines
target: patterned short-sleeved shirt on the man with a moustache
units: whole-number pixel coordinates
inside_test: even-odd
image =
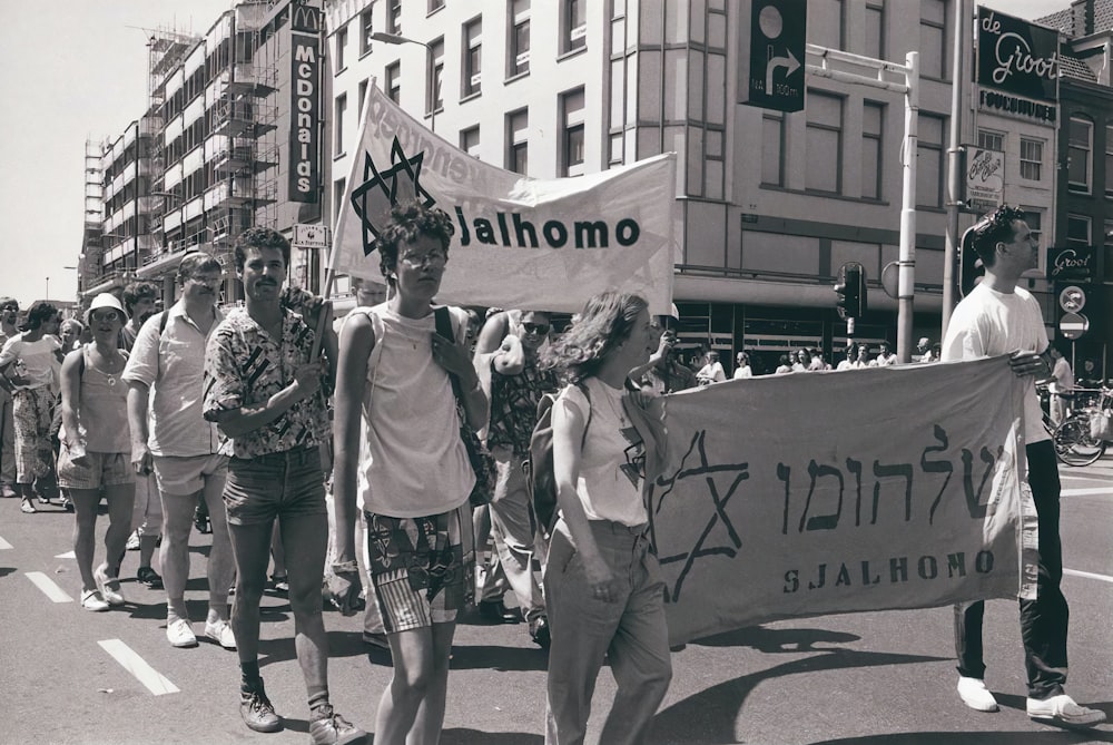
[[[229,313],[209,337],[205,353],[204,415],[266,403],[294,381],[294,370],[309,362],[314,332],[299,315],[283,312],[282,339],[275,340],[244,308]],[[224,438],[220,453],[255,458],[294,448],[312,448],[328,435],[324,389],[302,399],[269,424],[238,438]]]

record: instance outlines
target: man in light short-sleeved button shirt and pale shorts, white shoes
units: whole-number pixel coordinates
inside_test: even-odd
[[[166,589],[166,638],[173,647],[196,647],[197,637],[186,607],[189,579],[189,536],[194,510],[200,501],[209,508],[213,548],[207,561],[208,612],[205,636],[226,649],[236,648],[228,625],[228,586],[235,576],[232,542],[225,517],[227,458],[219,453],[216,425],[201,415],[205,346],[224,314],[216,307],[220,263],[196,252],[178,264],[180,298],[169,310],[152,314],[136,335],[124,380],[131,422],[131,465],[137,476],[136,501],[148,504],[136,520],[161,521],[162,577],[149,566],[145,542],[152,548],[157,526],[147,523],[139,539],[140,562],[136,578],[142,585]],[[125,291],[125,298],[129,295]],[[132,307],[144,313],[154,298],[134,293]],[[154,478],[154,483],[151,479]],[[138,511],[138,510],[137,510]],[[157,514],[156,514],[157,513]]]

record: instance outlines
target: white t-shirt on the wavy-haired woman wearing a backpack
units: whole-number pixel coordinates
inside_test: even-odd
[[[580,411],[588,425],[575,487],[583,511],[589,520],[611,520],[631,527],[644,525],[649,521],[641,496],[646,447],[622,410],[623,392],[594,378],[583,385],[590,402],[575,385],[569,385],[560,394],[560,400]]]

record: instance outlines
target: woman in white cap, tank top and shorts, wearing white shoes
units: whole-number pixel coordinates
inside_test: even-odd
[[[127,313],[115,295],[101,293],[86,312],[92,342],[62,362],[62,428],[58,433],[58,484],[73,500],[73,553],[81,572],[81,607],[108,610],[124,605],[119,577],[108,576],[109,562],[96,570],[97,506],[100,489],[108,501],[107,557],[124,555],[131,529],[135,471],[128,428],[128,386],[121,380],[127,353],[117,349]]]

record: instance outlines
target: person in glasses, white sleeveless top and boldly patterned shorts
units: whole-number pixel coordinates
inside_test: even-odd
[[[341,330],[333,422],[336,562],[328,581],[341,611],[355,612],[362,585],[355,519],[362,509],[374,588],[368,601],[378,605],[394,665],[378,702],[376,743],[440,738],[452,638],[474,570],[469,496],[475,473],[460,428],[485,425],[487,399],[469,354],[466,314],[433,306],[453,232],[441,209],[420,202],[395,206],[376,242],[390,300],[356,308]],[[436,332],[439,315],[450,322],[451,340]]]

